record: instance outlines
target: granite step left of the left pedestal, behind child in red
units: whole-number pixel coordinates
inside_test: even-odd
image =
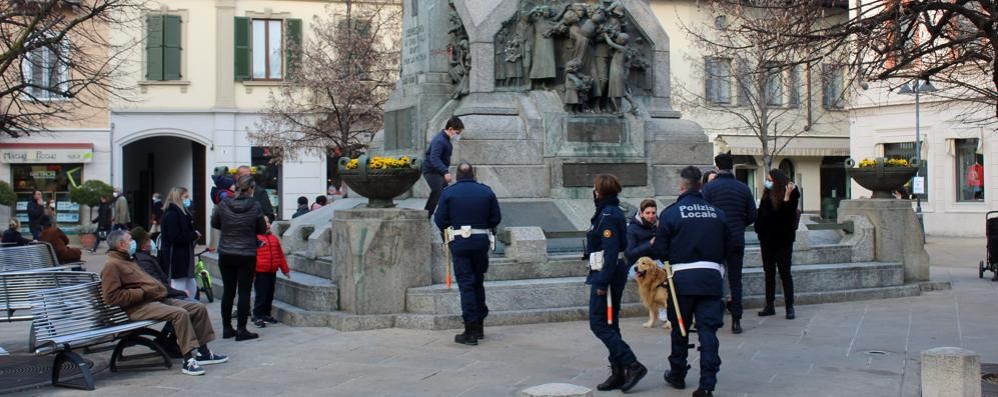
[[[217,257],[205,256],[205,266],[212,274],[212,287],[216,298],[222,295],[222,276]],[[297,306],[303,310],[333,311],[339,309],[339,288],[328,278],[292,270],[291,279],[277,276],[274,299]]]

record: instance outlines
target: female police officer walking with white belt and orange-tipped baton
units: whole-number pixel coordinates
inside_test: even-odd
[[[620,297],[627,285],[627,265],[621,253],[627,247],[627,222],[620,211],[620,182],[609,174],[596,176],[593,187],[593,200],[596,214],[593,215],[589,232],[586,233],[586,260],[598,262],[602,258],[602,269],[590,269],[586,284],[591,284],[589,293],[589,329],[596,334],[610,351],[610,377],[596,388],[602,391],[620,389],[628,391],[648,373],[638,362],[630,346],[620,336],[619,311],[614,311],[607,324],[607,299],[610,294],[612,307],[620,307]],[[595,255],[594,255],[595,254]],[[593,259],[590,257],[593,256]]]

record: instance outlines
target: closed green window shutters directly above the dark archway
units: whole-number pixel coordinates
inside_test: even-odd
[[[180,80],[180,16],[146,17],[146,80]]]

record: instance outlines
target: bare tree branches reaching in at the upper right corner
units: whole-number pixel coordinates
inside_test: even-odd
[[[733,0],[732,0],[733,1]],[[818,0],[787,0],[790,12]],[[844,6],[844,1],[839,4]],[[998,122],[998,3],[991,0],[859,0],[849,18],[801,32],[761,29],[782,36],[795,47],[821,51],[848,50],[850,69],[860,78],[898,86],[931,79],[934,96],[970,106],[969,115],[983,123]]]

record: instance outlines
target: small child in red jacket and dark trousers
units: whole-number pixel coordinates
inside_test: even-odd
[[[277,322],[277,319],[270,315],[274,303],[274,286],[277,284],[277,270],[284,273],[284,277],[289,280],[291,271],[288,269],[288,260],[281,248],[281,240],[270,233],[270,219],[267,219],[267,231],[257,235],[256,238],[261,244],[256,250],[256,280],[253,282],[256,299],[253,302],[253,324],[264,327],[266,323]]]

